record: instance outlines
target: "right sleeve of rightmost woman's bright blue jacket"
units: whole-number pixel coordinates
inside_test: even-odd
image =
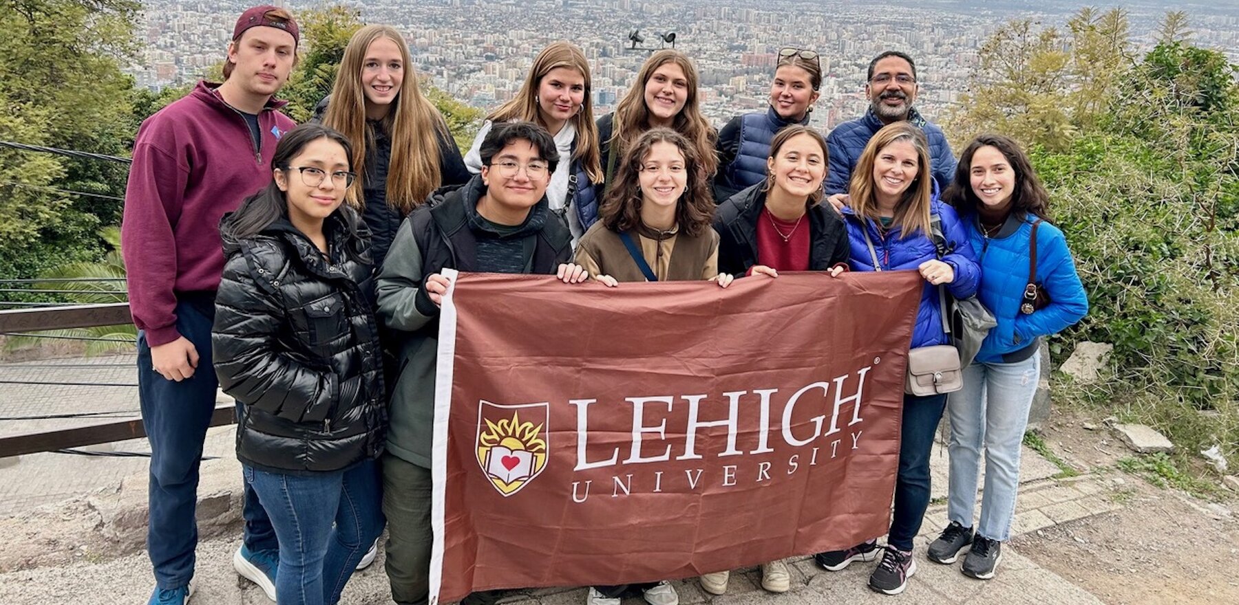
[[[1088,296],[1063,233],[1046,223],[1037,231],[1037,280],[1049,294],[1049,304],[1030,315],[1016,315],[1015,333],[1025,343],[1058,333],[1088,314]]]

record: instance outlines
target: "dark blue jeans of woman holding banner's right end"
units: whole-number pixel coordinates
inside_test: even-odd
[[[900,434],[900,473],[895,479],[895,516],[886,542],[912,551],[929,507],[929,452],[947,407],[945,395],[903,396],[903,432]]]

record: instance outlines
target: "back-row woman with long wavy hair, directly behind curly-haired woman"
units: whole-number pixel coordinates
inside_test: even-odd
[[[719,158],[714,152],[717,134],[701,114],[699,82],[696,67],[686,54],[672,48],[650,53],[616,110],[598,119],[600,157],[606,173],[598,187],[600,198],[611,189],[624,151],[654,127],[672,129],[686,139],[706,178],[717,172]]]

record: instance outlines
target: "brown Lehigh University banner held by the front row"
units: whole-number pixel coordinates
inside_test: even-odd
[[[727,288],[456,276],[431,603],[685,578],[883,534],[922,286],[911,271]]]

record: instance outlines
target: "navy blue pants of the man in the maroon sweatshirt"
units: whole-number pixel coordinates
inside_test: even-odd
[[[146,335],[138,334],[138,396],[151,444],[146,552],[161,589],[185,586],[193,578],[198,464],[219,386],[211,363],[212,318],[202,311],[203,304],[209,308],[206,301],[176,306],[176,329],[198,350],[198,367],[187,380],[171,381],[152,370]],[[275,531],[248,485],[244,501],[245,544],[252,551],[278,548]]]

